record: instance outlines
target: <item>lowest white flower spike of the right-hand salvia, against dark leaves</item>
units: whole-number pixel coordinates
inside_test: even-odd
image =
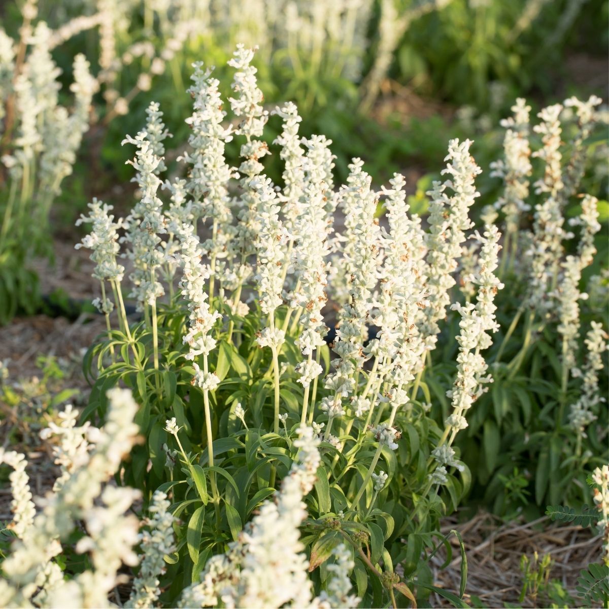
[[[602,323],[591,322],[585,340],[588,351],[585,364],[582,369],[571,371],[574,378],[582,378],[582,390],[579,399],[571,405],[569,425],[582,437],[586,437],[586,427],[596,420],[599,404],[607,401],[599,390],[599,371],[604,368],[603,353],[607,351],[608,338]]]

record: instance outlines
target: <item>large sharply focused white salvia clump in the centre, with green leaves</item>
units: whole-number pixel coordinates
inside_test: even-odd
[[[451,141],[428,229],[408,213],[401,175],[375,191],[354,159],[336,189],[331,142],[298,136],[294,104],[269,115],[252,59],[238,46],[230,61],[234,127],[213,72],[194,66],[183,177],[163,179],[168,134],[152,104],[124,142],[135,149],[132,212],[116,219],[94,200],[79,220],[93,225],[77,247],[93,250],[108,328],[85,358],[84,416],[104,418],[119,383],[141,404],[146,441],[121,481],[146,504],[155,491],[172,502],[162,603],[414,602],[415,587],[421,598],[435,589],[438,518],[470,485],[454,440],[491,381],[483,353],[502,284],[499,231],[473,230],[469,216],[481,169],[470,141]],[[269,119],[283,125],[270,145]],[[236,168],[224,157],[233,138]],[[283,188],[261,162],[275,146]],[[481,257],[460,304],[451,288],[468,238]],[[125,277],[139,322],[126,313]],[[426,360],[451,309],[459,370],[438,425],[419,393],[429,396]]]

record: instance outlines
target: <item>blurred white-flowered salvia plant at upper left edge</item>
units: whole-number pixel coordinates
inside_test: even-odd
[[[34,25],[36,16],[27,1],[18,40],[0,27],[0,323],[36,301],[37,276],[27,264],[48,254],[49,211],[72,172],[97,86],[85,56],[76,55],[73,107],[60,104],[52,32],[44,21]]]

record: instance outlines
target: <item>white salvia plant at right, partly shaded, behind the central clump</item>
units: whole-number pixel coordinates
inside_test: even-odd
[[[502,121],[504,157],[491,169],[504,188],[482,215],[503,228],[498,273],[511,289],[498,295],[501,335],[487,354],[495,382],[460,438],[465,461],[477,462],[474,477],[499,511],[502,480],[515,466],[537,505],[577,507],[590,501],[586,472],[607,460],[605,203],[580,191],[591,134],[606,121],[599,105],[594,96],[571,97],[541,110],[531,125],[530,107],[518,99]],[[465,298],[468,273],[462,264]],[[450,353],[427,377],[440,401]]]

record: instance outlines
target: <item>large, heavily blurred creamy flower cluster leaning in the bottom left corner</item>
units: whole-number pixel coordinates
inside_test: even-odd
[[[138,520],[124,513],[139,493],[104,484],[136,441],[139,427],[133,418],[138,406],[128,390],[110,390],[108,399],[107,423],[96,434],[88,434],[93,444],[88,459],[75,463],[63,484],[40,500],[41,511],[2,563],[5,577],[0,582],[0,605],[108,607],[108,593],[120,580],[121,564],[136,564],[132,547],[137,543]],[[68,414],[66,421],[72,418]],[[68,423],[65,429],[73,426]],[[76,454],[83,456],[80,451]],[[64,580],[53,559],[62,552],[60,542],[79,521],[86,534],[76,550],[89,552],[92,568]]]

